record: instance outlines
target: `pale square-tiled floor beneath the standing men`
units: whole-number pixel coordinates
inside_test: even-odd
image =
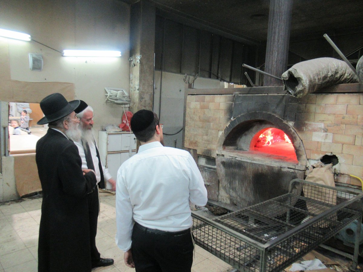
[[[37,271],[41,198],[0,203],[0,272]],[[123,251],[115,244],[115,195],[101,196],[97,248],[114,265],[93,271],[135,271],[123,262]],[[193,272],[227,272],[232,267],[196,246]]]

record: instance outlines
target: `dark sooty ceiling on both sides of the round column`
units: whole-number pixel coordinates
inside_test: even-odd
[[[267,39],[269,0],[152,0],[175,13],[225,32],[264,42]],[[291,39],[358,29],[363,32],[362,0],[294,0]]]

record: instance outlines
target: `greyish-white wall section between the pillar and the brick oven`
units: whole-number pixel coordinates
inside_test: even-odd
[[[164,124],[163,133],[174,134],[183,127],[184,114],[184,75],[155,71],[155,92],[154,92],[154,112],[159,115],[160,123]],[[192,80],[192,76],[190,77]],[[161,84],[161,85],[160,85]],[[208,78],[197,78],[194,88],[220,88],[219,80]],[[161,90],[161,108],[160,108]],[[168,136],[164,134],[164,143],[169,147],[181,148],[183,133],[180,131],[176,135]]]

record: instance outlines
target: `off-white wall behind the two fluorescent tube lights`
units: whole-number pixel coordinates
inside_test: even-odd
[[[28,33],[46,45],[7,39],[12,80],[74,83],[75,98],[85,100],[95,111],[96,137],[102,125],[121,123],[123,108],[105,103],[104,88],[129,90],[128,4],[118,0],[0,0],[0,28]],[[62,57],[57,51],[63,49],[120,50],[122,57]],[[42,71],[29,69],[28,53],[42,54]]]

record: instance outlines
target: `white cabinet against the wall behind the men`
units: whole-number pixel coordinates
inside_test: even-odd
[[[130,132],[100,131],[98,151],[101,162],[116,180],[120,165],[136,153],[136,137]],[[106,189],[111,189],[107,182]]]

